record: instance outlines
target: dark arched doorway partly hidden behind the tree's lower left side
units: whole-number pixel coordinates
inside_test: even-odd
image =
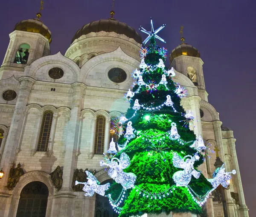
[[[105,180],[100,184],[104,185],[106,183],[112,182],[113,180]],[[110,205],[108,197],[96,194],[94,217],[118,217],[118,214],[113,210],[112,206]]]

